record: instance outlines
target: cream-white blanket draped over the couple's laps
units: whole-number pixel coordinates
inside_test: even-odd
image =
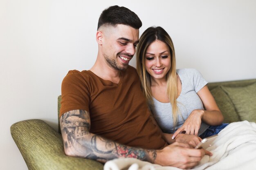
[[[207,148],[213,153],[205,155],[193,170],[256,170],[256,123],[234,122],[220,131],[216,143]],[[134,158],[108,161],[104,170],[181,170],[159,166]]]

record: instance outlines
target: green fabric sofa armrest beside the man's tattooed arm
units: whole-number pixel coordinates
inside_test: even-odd
[[[103,170],[103,164],[64,153],[61,135],[39,119],[19,121],[11,136],[29,170]]]

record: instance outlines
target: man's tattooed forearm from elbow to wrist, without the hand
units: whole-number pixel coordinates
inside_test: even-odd
[[[119,157],[132,157],[153,162],[156,157],[155,150],[124,146],[93,134],[75,139],[72,146],[68,147],[66,150],[71,150],[71,156],[85,157],[101,162]]]

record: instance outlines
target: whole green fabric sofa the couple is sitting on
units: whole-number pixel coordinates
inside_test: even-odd
[[[256,122],[256,79],[209,83],[224,122]],[[58,97],[58,112],[61,96]],[[56,114],[57,115],[57,114]],[[11,136],[29,170],[103,170],[97,161],[66,156],[61,134],[39,119],[19,121]]]

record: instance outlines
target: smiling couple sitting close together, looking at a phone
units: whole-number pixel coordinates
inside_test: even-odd
[[[222,124],[202,75],[194,69],[176,70],[168,33],[150,27],[139,39],[141,25],[125,7],[101,13],[94,66],[69,71],[62,82],[65,153],[101,162],[132,157],[192,168],[211,155],[193,147],[227,124]],[[137,71],[128,65],[136,46]]]

